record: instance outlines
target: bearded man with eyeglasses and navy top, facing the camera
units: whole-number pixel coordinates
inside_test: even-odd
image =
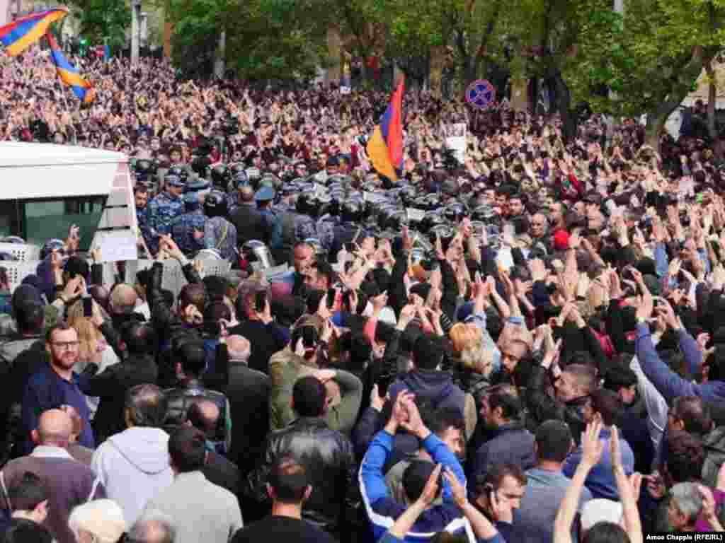
[[[91,429],[91,411],[86,396],[78,388],[78,374],[73,366],[78,362],[78,332],[65,323],[57,324],[46,333],[46,349],[50,353],[50,363],[30,376],[22,397],[22,429],[26,453],[33,450],[31,432],[38,427],[38,418],[43,411],[72,405],[78,411],[83,429],[78,444],[91,449],[96,448],[93,429]]]

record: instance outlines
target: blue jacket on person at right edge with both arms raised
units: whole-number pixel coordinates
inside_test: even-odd
[[[699,367],[703,355],[697,349],[697,342],[684,329],[679,332],[679,345],[688,367],[690,369]],[[639,366],[642,367],[647,379],[650,379],[650,382],[668,402],[678,396],[699,396],[705,402],[713,403],[725,400],[725,382],[692,383],[682,379],[669,369],[669,366],[662,361],[655,350],[652,333],[647,324],[637,325],[636,348]]]

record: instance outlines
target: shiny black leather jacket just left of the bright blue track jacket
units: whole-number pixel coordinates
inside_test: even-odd
[[[298,418],[270,434],[264,458],[247,476],[245,494],[257,502],[268,503],[265,485],[270,469],[280,455],[287,454],[307,467],[312,481],[312,494],[302,507],[302,518],[328,532],[339,531],[344,526],[346,510],[357,505],[357,466],[352,442],[344,434],[329,429],[323,418]]]

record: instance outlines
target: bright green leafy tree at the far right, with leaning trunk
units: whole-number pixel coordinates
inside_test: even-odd
[[[646,143],[659,148],[669,115],[694,90],[703,66],[721,49],[723,0],[630,0],[622,17],[584,0],[576,95],[595,111],[647,114]],[[612,93],[597,96],[592,88]]]

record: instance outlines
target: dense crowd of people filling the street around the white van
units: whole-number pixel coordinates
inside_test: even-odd
[[[409,93],[390,180],[365,154],[383,95],[113,60],[83,67],[96,101],[68,109],[40,54],[2,70],[5,139],[129,154],[154,259],[104,284],[71,229],[12,292],[4,541],[722,531],[725,201],[706,140],[658,152],[595,116],[566,143],[555,116]],[[202,253],[231,271],[202,277]]]

